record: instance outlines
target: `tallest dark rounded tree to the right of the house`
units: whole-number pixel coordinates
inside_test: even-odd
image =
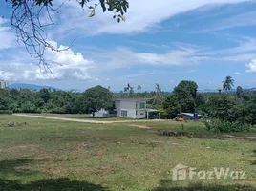
[[[182,112],[195,112],[198,85],[194,81],[183,80],[173,93],[178,97]]]

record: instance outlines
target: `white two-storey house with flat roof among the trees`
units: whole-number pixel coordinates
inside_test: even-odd
[[[117,98],[115,106],[117,117],[145,118],[147,116],[147,101],[151,98]]]

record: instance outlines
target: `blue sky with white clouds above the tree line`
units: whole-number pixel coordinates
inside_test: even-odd
[[[181,80],[216,90],[230,75],[235,86],[256,87],[256,1],[129,3],[126,21],[117,23],[112,12],[98,8],[89,18],[90,11],[66,1],[52,15],[56,25],[44,28],[54,47],[71,45],[68,51],[46,51],[45,57],[53,60],[50,74],[17,42],[11,7],[2,2],[0,79],[81,91],[96,85],[120,91],[127,83],[150,91],[159,83],[172,91]]]

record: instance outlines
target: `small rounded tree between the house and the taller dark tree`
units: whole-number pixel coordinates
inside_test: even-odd
[[[174,118],[177,116],[177,114],[181,112],[181,105],[179,104],[179,99],[173,94],[171,96],[168,96],[163,101],[162,108],[164,109],[164,114],[168,118]]]

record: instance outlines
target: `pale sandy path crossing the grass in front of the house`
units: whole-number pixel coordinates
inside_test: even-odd
[[[37,118],[48,118],[53,120],[65,120],[65,121],[73,121],[73,122],[84,122],[84,123],[96,123],[96,124],[111,124],[111,123],[124,123],[124,122],[148,122],[149,120],[85,120],[85,119],[77,119],[77,118],[65,118],[65,117],[50,117],[50,116],[32,116],[27,114],[13,114],[19,117],[37,117]],[[160,119],[150,120],[150,121],[160,121]]]

